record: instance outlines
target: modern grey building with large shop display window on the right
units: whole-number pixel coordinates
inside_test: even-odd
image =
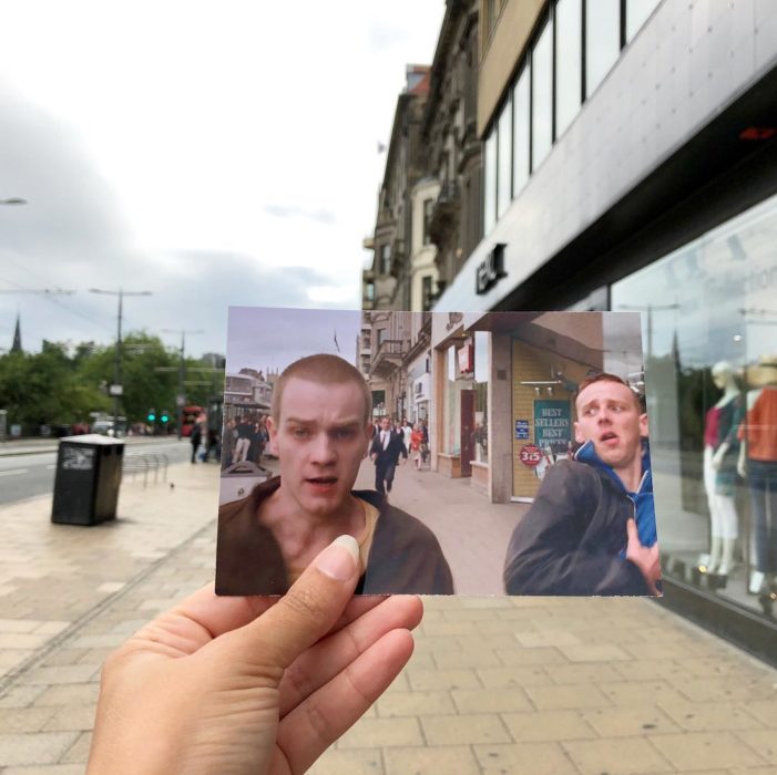
[[[434,310],[643,312],[667,600],[774,658],[777,531],[760,468],[744,446],[723,535],[705,447],[726,396],[713,366],[733,373],[737,417],[777,392],[777,4],[479,10],[483,238]]]

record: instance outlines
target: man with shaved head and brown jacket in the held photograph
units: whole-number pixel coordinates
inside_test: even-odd
[[[218,513],[216,591],[283,595],[337,536],[359,542],[357,592],[449,595],[434,535],[374,492],[352,490],[371,435],[371,396],[337,355],[310,355],[275,383],[267,427],[280,476]]]

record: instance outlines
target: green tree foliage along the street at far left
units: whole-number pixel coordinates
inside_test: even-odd
[[[89,422],[90,412],[113,411],[108,386],[115,374],[115,344],[95,347],[83,342],[75,348],[44,342],[40,353],[0,355],[0,409],[8,410],[8,423],[20,423],[25,433],[42,424]],[[145,332],[126,335],[122,344],[121,382],[124,394],[120,411],[130,423],[144,422],[150,406],[176,416],[180,354],[165,348],[159,337]],[[206,364],[187,359],[187,368]],[[222,391],[224,372],[192,371],[188,380],[206,382],[185,388],[187,403],[205,405]]]

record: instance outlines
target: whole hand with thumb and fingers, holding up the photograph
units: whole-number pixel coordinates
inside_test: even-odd
[[[277,602],[208,587],[144,627],[103,666],[88,774],[307,771],[412,653],[421,601],[358,580],[341,536]]]

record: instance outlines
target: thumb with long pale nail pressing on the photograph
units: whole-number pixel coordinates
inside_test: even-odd
[[[358,569],[356,539],[336,538],[275,606],[243,628],[251,652],[244,658],[285,670],[337,622],[354,595]]]

